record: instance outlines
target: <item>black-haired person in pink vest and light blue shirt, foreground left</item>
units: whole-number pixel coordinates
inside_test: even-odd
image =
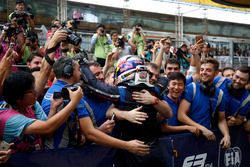
[[[0,113],[1,138],[7,142],[14,142],[13,151],[34,151],[43,148],[40,135],[53,133],[75,109],[83,93],[79,88],[75,92],[69,91],[71,101],[50,119],[47,119],[41,106],[36,102],[34,88],[35,79],[27,72],[16,72],[9,75],[3,84],[3,99],[8,105]],[[51,110],[57,110],[60,103],[52,99]],[[8,107],[11,106],[11,107]]]

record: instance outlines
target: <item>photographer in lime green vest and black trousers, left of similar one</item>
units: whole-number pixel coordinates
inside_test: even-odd
[[[91,38],[91,51],[94,50],[96,61],[101,65],[105,64],[106,55],[112,51],[111,49],[112,40],[109,34],[106,34],[105,26],[99,24],[96,27],[96,33]]]

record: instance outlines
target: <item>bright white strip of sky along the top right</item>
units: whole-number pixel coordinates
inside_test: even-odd
[[[82,2],[96,4],[102,6],[128,8],[131,10],[148,11],[153,13],[162,13],[176,15],[178,7],[184,17],[204,18],[209,20],[233,22],[250,25],[250,12],[235,11],[232,9],[220,9],[216,7],[207,7],[201,5],[190,5],[190,3],[180,3],[174,0],[69,0],[74,2]]]

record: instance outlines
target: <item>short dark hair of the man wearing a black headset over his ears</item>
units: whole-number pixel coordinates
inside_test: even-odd
[[[57,79],[63,78],[63,71],[64,67],[67,64],[70,64],[73,60],[70,57],[60,57],[56,62],[53,64],[53,71]],[[73,63],[72,63],[73,65]]]

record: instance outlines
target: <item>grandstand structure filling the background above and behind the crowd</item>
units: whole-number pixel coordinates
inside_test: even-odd
[[[39,36],[42,43],[45,39],[46,28],[49,29],[52,19],[59,18],[64,21],[73,18],[73,13],[77,12],[81,16],[78,33],[82,35],[83,47],[87,50],[98,23],[105,24],[108,32],[111,30],[128,32],[135,23],[139,22],[143,25],[147,38],[158,39],[170,36],[175,47],[178,47],[183,41],[194,43],[196,35],[203,35],[204,39],[211,44],[212,53],[221,62],[222,67],[250,65],[250,24],[236,23],[236,20],[231,20],[231,22],[211,20],[209,9],[218,8],[218,6],[197,4],[194,2],[195,0],[192,2],[191,0],[151,0],[152,3],[154,1],[168,2],[175,5],[168,6],[169,9],[175,8],[176,13],[172,15],[135,10],[133,6],[130,6],[130,1],[133,0],[119,0],[122,4],[114,4],[114,7],[105,6],[101,1],[98,4],[97,0],[82,0],[81,2],[76,0],[26,0],[26,4],[35,15],[35,24],[37,30],[40,31]],[[206,0],[201,2],[204,1]],[[0,24],[3,25],[7,22],[8,14],[15,8],[15,0],[0,0],[0,2]],[[183,12],[180,6],[183,4],[196,8]],[[203,11],[200,18],[189,17],[188,14],[196,12],[196,10]],[[250,12],[248,8],[240,10],[221,8],[221,10],[233,10],[247,14]]]

